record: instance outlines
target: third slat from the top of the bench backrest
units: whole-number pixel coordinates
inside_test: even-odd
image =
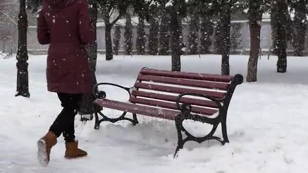
[[[148,84],[148,83],[141,83],[141,82],[136,82],[135,87],[138,89],[153,90],[153,91],[160,91],[160,92],[167,92],[167,93],[176,93],[176,94],[197,93],[197,94],[203,94],[203,95],[217,98],[217,99],[223,99],[225,96],[225,93],[185,89],[185,88],[178,88],[174,86],[164,86],[164,85]]]

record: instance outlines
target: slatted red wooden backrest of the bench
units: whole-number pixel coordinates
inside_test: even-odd
[[[178,110],[175,102],[179,94],[197,93],[224,102],[233,79],[234,76],[144,68],[138,75],[129,101]],[[191,104],[194,113],[212,115],[218,111],[215,102],[200,97],[183,97],[180,103]]]

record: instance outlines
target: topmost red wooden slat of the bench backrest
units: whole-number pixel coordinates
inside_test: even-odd
[[[208,80],[208,81],[227,82],[227,83],[233,79],[233,76],[204,74],[204,73],[187,73],[187,72],[155,70],[155,69],[142,69],[140,71],[140,74],[184,78],[184,79],[195,79],[195,80]]]

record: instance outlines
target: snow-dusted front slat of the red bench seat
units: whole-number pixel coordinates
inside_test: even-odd
[[[126,112],[141,114],[141,115],[147,115],[147,116],[152,116],[152,117],[157,117],[157,118],[170,119],[170,120],[174,120],[175,115],[180,113],[179,111],[175,111],[175,110],[135,105],[132,103],[119,102],[119,101],[113,101],[113,100],[108,100],[108,99],[104,99],[104,100],[97,99],[94,101],[94,103],[104,108],[110,108],[110,109],[126,111]]]

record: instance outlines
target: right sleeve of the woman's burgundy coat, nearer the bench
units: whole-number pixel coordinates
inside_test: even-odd
[[[95,40],[94,32],[91,27],[91,19],[89,12],[89,5],[86,0],[79,0],[79,35],[83,45],[90,44]]]

